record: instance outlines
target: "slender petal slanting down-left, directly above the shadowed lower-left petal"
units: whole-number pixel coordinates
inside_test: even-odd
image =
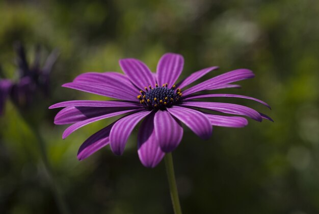
[[[144,108],[141,108],[141,110],[144,109]],[[109,114],[105,114],[105,115],[101,115],[101,116],[97,116],[97,117],[92,117],[92,118],[89,118],[88,120],[85,120],[85,121],[81,121],[81,122],[77,122],[71,126],[69,126],[64,132],[63,132],[63,135],[62,135],[62,138],[65,139],[67,136],[69,136],[72,132],[74,132],[75,130],[83,127],[83,126],[86,126],[90,123],[93,123],[93,122],[96,122],[96,121],[100,121],[100,120],[103,120],[105,118],[109,118],[109,117],[112,117],[112,116],[117,116],[117,115],[121,115],[121,114],[126,114],[126,113],[130,113],[130,112],[136,112],[136,111],[139,111],[139,110],[124,110],[124,111],[117,111],[117,112],[113,112],[113,113],[109,113]]]

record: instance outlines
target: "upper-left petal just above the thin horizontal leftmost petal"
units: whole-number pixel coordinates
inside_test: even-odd
[[[121,89],[118,86],[111,86],[99,83],[90,83],[90,82],[71,82],[65,83],[62,85],[66,88],[72,88],[76,90],[82,90],[89,93],[99,94],[105,97],[120,99],[120,100],[128,100],[137,102],[136,93],[131,91],[130,93],[126,90]]]

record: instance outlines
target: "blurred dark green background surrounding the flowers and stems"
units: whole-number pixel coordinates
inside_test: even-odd
[[[71,213],[173,213],[164,161],[146,169],[137,155],[137,131],[123,156],[109,148],[84,161],[78,147],[113,119],[88,125],[62,140],[67,126],[53,124],[67,100],[103,100],[62,88],[84,72],[120,72],[133,57],[155,71],[166,52],[180,53],[181,78],[204,67],[254,71],[238,93],[275,123],[250,120],[241,129],[215,127],[208,141],[185,129],[173,152],[184,213],[319,213],[319,2],[315,0],[91,0],[0,1],[2,74],[17,78],[13,44],[25,45],[42,63],[56,47],[50,94],[30,109],[36,118],[52,174]],[[205,79],[203,78],[203,79]],[[12,102],[0,117],[0,213],[59,213],[36,138]]]

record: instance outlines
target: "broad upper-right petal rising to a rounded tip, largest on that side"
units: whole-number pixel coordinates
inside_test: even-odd
[[[251,70],[248,69],[237,69],[232,70],[231,72],[227,72],[225,74],[213,77],[209,80],[206,80],[202,83],[199,83],[189,89],[186,89],[183,94],[184,96],[192,93],[196,93],[202,90],[211,90],[210,88],[214,88],[216,86],[225,85],[232,82],[237,82],[240,80],[245,80],[249,78],[253,78],[255,75]]]

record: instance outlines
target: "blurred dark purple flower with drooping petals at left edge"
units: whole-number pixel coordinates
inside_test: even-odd
[[[34,61],[31,64],[26,60],[24,47],[19,42],[15,43],[14,48],[17,53],[18,80],[16,82],[0,80],[0,114],[3,113],[3,107],[8,96],[11,97],[15,105],[24,108],[32,102],[37,91],[42,91],[47,95],[49,74],[59,55],[57,50],[53,51],[41,67],[39,46],[36,47]]]

